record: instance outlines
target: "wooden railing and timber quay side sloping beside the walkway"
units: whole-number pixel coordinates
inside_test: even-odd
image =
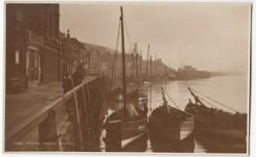
[[[5,151],[98,151],[108,78],[83,82],[5,132]]]

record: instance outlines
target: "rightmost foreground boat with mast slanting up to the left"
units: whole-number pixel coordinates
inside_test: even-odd
[[[215,103],[233,110],[235,113],[218,109],[216,105],[210,103],[205,98],[196,95],[195,92],[199,92],[195,89],[189,87],[189,92],[195,98],[195,103],[192,103],[191,100],[189,100],[189,104],[186,105],[185,111],[195,115],[196,131],[208,132],[224,137],[246,139],[247,114],[239,113],[235,109],[231,109],[229,106],[205,96],[206,98],[212,99]],[[205,102],[212,105],[212,107],[208,107]]]

